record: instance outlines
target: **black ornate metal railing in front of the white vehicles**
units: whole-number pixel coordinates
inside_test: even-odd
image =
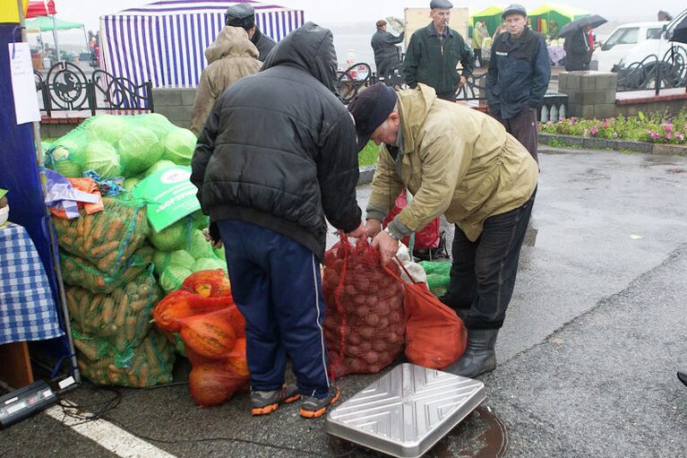
[[[614,71],[618,73],[617,91],[654,90],[658,95],[661,89],[687,88],[687,51],[673,46],[663,58],[652,54]]]

